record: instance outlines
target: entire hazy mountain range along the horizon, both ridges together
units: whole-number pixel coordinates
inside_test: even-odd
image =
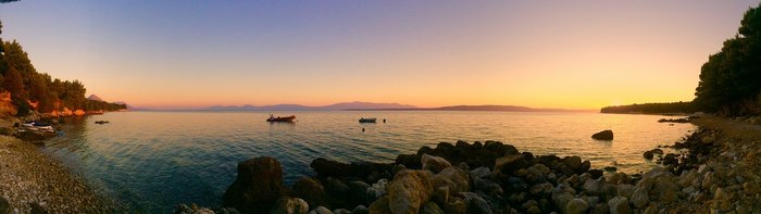
[[[399,103],[340,102],[323,106],[300,104],[276,105],[214,105],[205,111],[499,111],[499,112],[592,112],[596,110],[533,109],[516,105],[451,105],[440,108],[417,108]]]

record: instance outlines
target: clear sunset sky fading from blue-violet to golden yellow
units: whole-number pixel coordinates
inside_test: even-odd
[[[687,101],[758,1],[32,1],[38,72],[144,108]]]

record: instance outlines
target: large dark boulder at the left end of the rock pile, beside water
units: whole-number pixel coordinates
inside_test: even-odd
[[[223,206],[232,206],[242,213],[270,211],[283,196],[283,168],[270,156],[255,158],[238,163],[238,177],[227,188]]]

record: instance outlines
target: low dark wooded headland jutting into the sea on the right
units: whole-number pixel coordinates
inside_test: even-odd
[[[646,113],[646,114],[663,114],[663,113],[694,113],[696,108],[693,102],[664,102],[664,103],[644,103],[607,106],[600,110],[601,113]]]

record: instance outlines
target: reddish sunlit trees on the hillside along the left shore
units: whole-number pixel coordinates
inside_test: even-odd
[[[0,23],[2,34],[2,23]],[[85,86],[78,80],[61,80],[39,73],[28,53],[16,41],[0,38],[0,90],[10,91],[17,115],[36,110],[41,113],[68,109],[83,111],[115,111],[125,104],[107,103],[85,98]]]

